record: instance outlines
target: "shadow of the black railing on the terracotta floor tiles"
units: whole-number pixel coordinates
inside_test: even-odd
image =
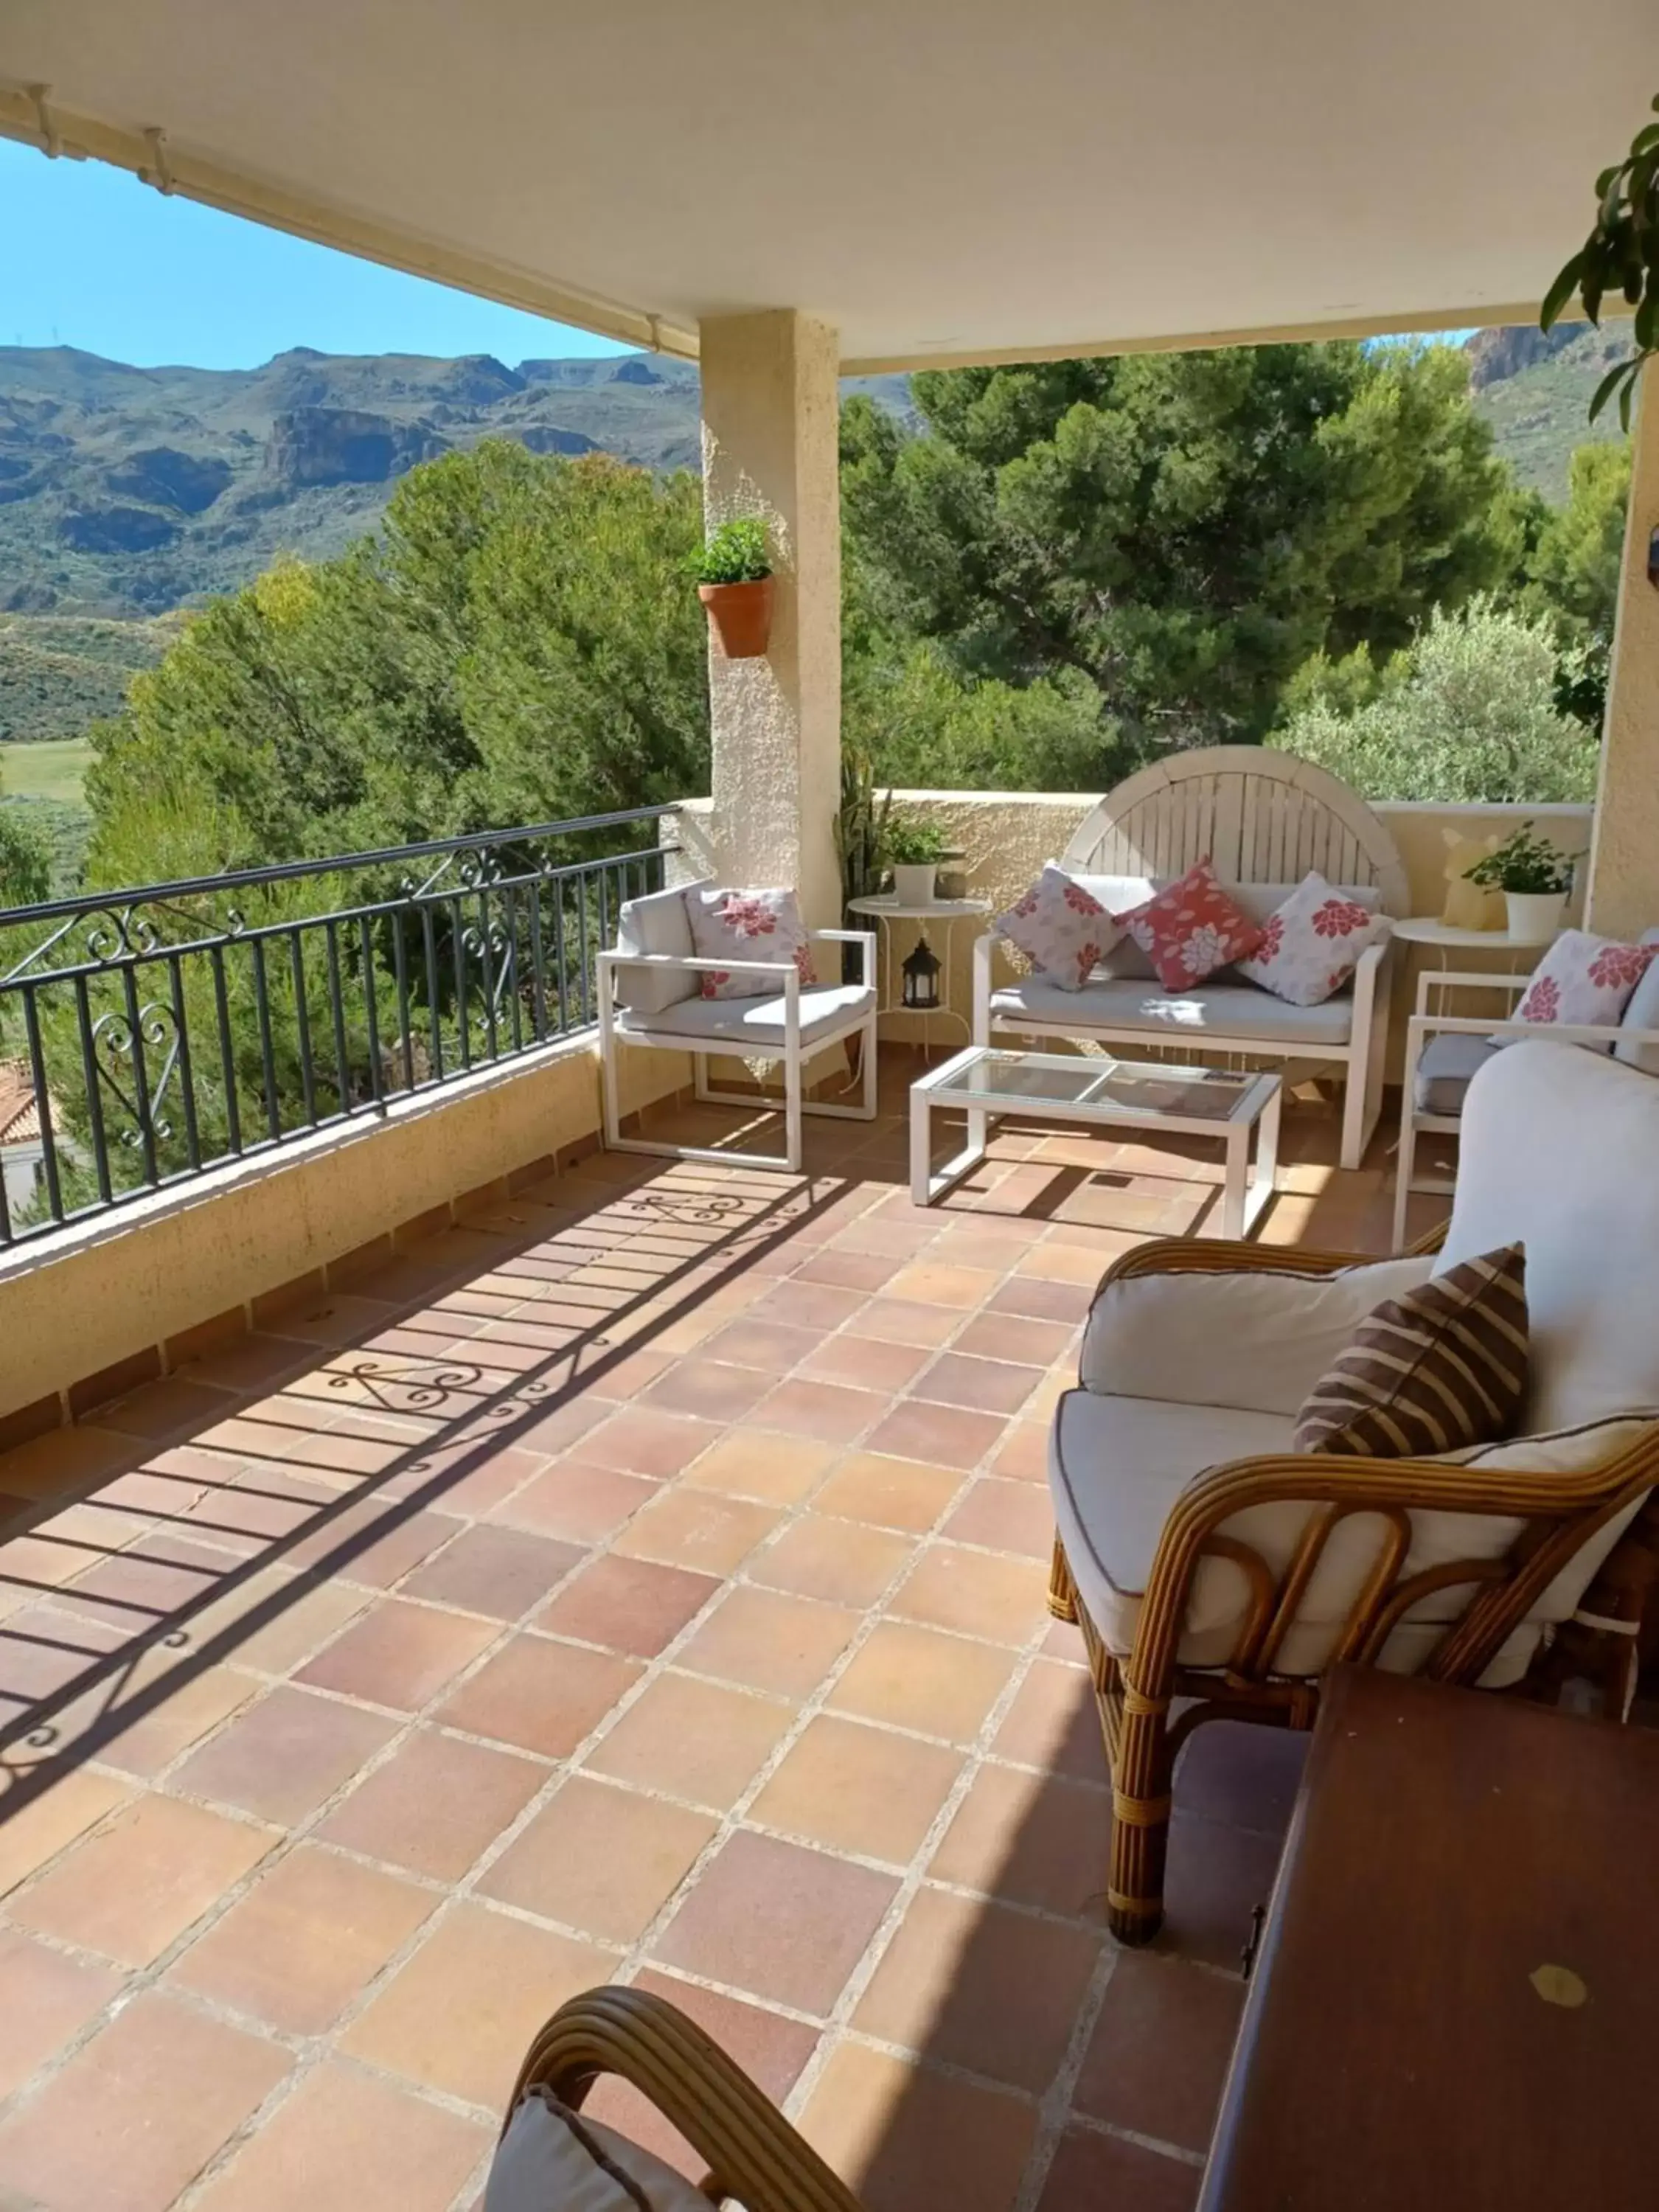
[[[672,1177],[681,1177],[681,1181],[675,1183],[670,1177],[666,1188],[661,1181],[664,1170],[672,1170]],[[730,1181],[710,1188],[714,1177],[730,1177],[730,1172],[706,1168],[679,1170],[668,1161],[653,1164],[644,1157],[637,1166],[630,1161],[615,1177],[615,1194],[580,1212],[575,1217],[577,1223],[617,1223],[622,1219],[635,1223],[641,1232],[650,1228],[726,1228],[726,1234],[699,1245],[679,1261],[655,1254],[655,1261],[641,1267],[644,1281],[637,1290],[630,1292],[626,1285],[619,1285],[613,1303],[593,1307],[593,1321],[586,1327],[580,1323],[571,1325],[568,1343],[549,1349],[544,1358],[520,1371],[491,1369],[487,1356],[465,1358],[456,1356],[453,1349],[442,1358],[429,1358],[425,1354],[400,1352],[376,1354],[354,1343],[336,1347],[319,1343],[314,1347],[316,1365],[290,1376],[279,1387],[276,1402],[281,1402],[283,1394],[294,1394],[312,1407],[319,1398],[327,1402],[338,1391],[345,1425],[319,1431],[307,1420],[305,1425],[296,1425],[296,1438],[303,1436],[314,1447],[319,1436],[323,1440],[336,1436],[341,1447],[345,1447],[349,1440],[363,1440],[361,1422],[365,1418],[374,1420],[374,1416],[380,1416],[389,1429],[418,1420],[427,1425],[427,1433],[407,1436],[407,1440],[398,1436],[383,1438],[389,1460],[369,1473],[352,1467],[349,1453],[343,1449],[338,1464],[330,1464],[319,1455],[307,1460],[299,1449],[290,1455],[279,1455],[276,1440],[272,1438],[270,1486],[228,1478],[223,1484],[226,1500],[234,1498],[241,1506],[270,1506],[270,1517],[281,1522],[285,1513],[296,1513],[296,1509],[307,1504],[303,1498],[307,1473],[319,1480],[352,1480],[354,1486],[341,1491],[330,1502],[310,1502],[312,1511],[299,1511],[292,1526],[274,1528],[259,1548],[237,1557],[234,1564],[219,1564],[210,1557],[208,1546],[215,1535],[210,1520],[139,1504],[133,1511],[144,1513],[157,1528],[133,1542],[128,1526],[126,1535],[133,1548],[100,1544],[91,1535],[75,1535],[73,1531],[53,1537],[53,1544],[86,1551],[86,1566],[93,1568],[88,1584],[64,1586],[66,1577],[58,1577],[55,1582],[44,1577],[33,1579],[27,1573],[27,1564],[22,1571],[15,1566],[9,1571],[4,1551],[0,1551],[0,1593],[13,1599],[20,1590],[29,1593],[13,1601],[11,1619],[0,1621],[0,1652],[9,1650],[9,1679],[18,1683],[15,1692],[7,1692],[4,1683],[0,1683],[0,1714],[4,1714],[7,1705],[11,1708],[9,1717],[0,1719],[0,1820],[20,1812],[22,1805],[40,1796],[42,1790],[51,1787],[53,1781],[84,1759],[97,1756],[100,1747],[177,1694],[195,1674],[206,1672],[223,1659],[234,1659],[239,1646],[250,1641],[261,1628],[279,1621],[288,1608],[312,1595],[334,1575],[349,1571],[352,1562],[369,1546],[385,1542],[387,1535],[418,1513],[440,1506],[458,1484],[482,1469],[495,1453],[531,1433],[560,1407],[580,1400],[586,1389],[604,1380],[608,1369],[646,1347],[653,1336],[690,1316],[708,1292],[717,1287],[717,1283],[710,1283],[710,1270],[714,1270],[719,1281],[737,1281],[790,1237],[818,1223],[847,1190],[845,1177],[825,1172],[814,1172],[803,1183],[792,1181],[785,1190],[776,1190],[768,1179],[761,1190],[752,1190],[748,1197],[732,1192]],[[639,1186],[653,1175],[659,1181],[650,1190],[641,1190]],[[478,1219],[484,1223],[500,1219],[502,1212],[511,1212],[511,1203],[507,1201],[493,1214],[482,1212]],[[531,1201],[520,1199],[518,1203],[529,1206]],[[741,1219],[734,1217],[739,1212]],[[469,1225],[458,1223],[460,1230]],[[557,1241],[557,1234],[562,1230],[553,1232],[553,1241]],[[538,1250],[546,1250],[546,1245],[549,1239],[529,1234],[515,1252],[504,1252],[502,1259],[533,1256]],[[635,1261],[644,1259],[646,1254],[635,1254]],[[615,1274],[626,1276],[626,1245],[622,1252],[615,1245],[604,1254],[595,1250],[584,1265],[595,1263],[604,1263]],[[491,1272],[482,1270],[482,1276]],[[465,1267],[451,1272],[449,1290],[442,1294],[462,1294],[476,1281],[480,1281],[480,1270],[469,1261]],[[367,1294],[369,1287],[372,1279],[352,1285],[352,1292],[345,1292],[345,1296]],[[664,1301],[668,1305],[661,1312],[655,1312],[646,1325],[635,1327],[644,1307],[661,1307]],[[538,1303],[557,1305],[560,1301],[546,1298]],[[411,1314],[431,1310],[434,1298],[403,1298],[398,1305],[400,1318],[407,1321]],[[387,1334],[396,1327],[400,1327],[400,1321],[376,1327],[376,1334]],[[330,1378],[321,1391],[299,1389],[299,1385],[314,1385],[319,1374]],[[228,1400],[226,1418],[241,1420],[248,1427],[248,1416],[268,1405],[270,1396],[252,1398],[243,1405]],[[279,1429],[281,1425],[270,1422],[270,1427]],[[146,1462],[161,1460],[168,1451],[177,1451],[190,1442],[192,1438],[184,1433],[164,1447],[135,1438],[128,1469],[104,1471],[73,1495],[55,1495],[42,1502],[40,1511],[31,1515],[31,1524],[38,1526],[46,1520],[64,1517],[77,1504],[119,1513],[119,1502],[100,1509],[100,1493],[113,1491],[119,1500],[122,1482],[142,1478],[146,1493],[153,1495],[148,1491],[150,1484],[173,1478],[157,1475]],[[398,1449],[400,1442],[403,1449]],[[265,1453],[234,1447],[223,1458],[239,1469],[257,1469]],[[279,1469],[285,1480],[279,1480]],[[195,1480],[177,1480],[192,1493],[201,1489],[199,1475]],[[365,1513],[365,1506],[374,1511]],[[217,1533],[221,1537],[234,1535],[239,1542],[248,1540],[246,1526],[230,1528],[221,1524]],[[330,1542],[330,1533],[338,1533],[338,1542]],[[27,1544],[29,1524],[11,1528],[9,1542],[18,1535]],[[195,1551],[190,1540],[195,1540]],[[204,1641],[192,1644],[192,1621],[201,1619],[210,1608],[221,1606],[228,1597],[234,1597],[254,1577],[265,1575],[270,1568],[281,1568],[296,1551],[316,1553],[319,1542],[327,1548],[310,1557],[281,1588],[254,1599],[223,1628],[215,1628]],[[139,1579],[142,1571],[150,1568],[155,1593],[122,1595],[119,1590],[111,1590],[108,1595],[100,1595],[95,1588],[100,1562],[122,1562],[126,1575],[137,1568]],[[192,1584],[199,1586],[192,1588]],[[24,1608],[38,1608],[49,1619],[31,1621]],[[164,1672],[148,1677],[146,1663],[155,1652],[164,1650],[177,1652],[177,1661],[168,1663]],[[88,1699],[95,1699],[93,1710],[75,1710]],[[71,1714],[73,1728],[62,1725]],[[29,1754],[35,1756],[29,1759]]]

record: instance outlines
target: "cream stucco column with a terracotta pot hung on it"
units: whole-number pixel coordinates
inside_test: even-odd
[[[703,509],[765,515],[776,602],[763,659],[712,648],[714,852],[732,883],[794,883],[841,920],[841,354],[790,307],[701,325]]]

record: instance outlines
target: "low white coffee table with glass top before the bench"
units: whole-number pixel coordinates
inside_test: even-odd
[[[931,1206],[984,1159],[991,1124],[1066,1121],[1088,1128],[1168,1130],[1217,1137],[1225,1146],[1221,1234],[1245,1237],[1274,1194],[1279,1166],[1281,1084],[1272,1073],[1181,1068],[1152,1060],[1106,1060],[1077,1053],[1013,1053],[973,1044],[909,1088],[909,1190]],[[967,1146],[933,1168],[933,1110],[967,1115]],[[1250,1135],[1256,1157],[1250,1161]]]

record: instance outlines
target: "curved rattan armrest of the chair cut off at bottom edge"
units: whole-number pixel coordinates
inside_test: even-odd
[[[858,2199],[719,2044],[644,1989],[591,1989],[546,2022],[524,2057],[526,2090],[580,2106],[604,2073],[630,2081],[708,2163],[703,2194],[745,2212],[860,2212]]]

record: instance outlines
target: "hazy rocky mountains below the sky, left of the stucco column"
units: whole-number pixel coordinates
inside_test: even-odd
[[[872,378],[907,405],[902,378]],[[697,369],[624,354],[316,354],[259,369],[135,369],[73,347],[0,347],[0,613],[157,615],[325,560],[396,480],[480,438],[699,462]]]

